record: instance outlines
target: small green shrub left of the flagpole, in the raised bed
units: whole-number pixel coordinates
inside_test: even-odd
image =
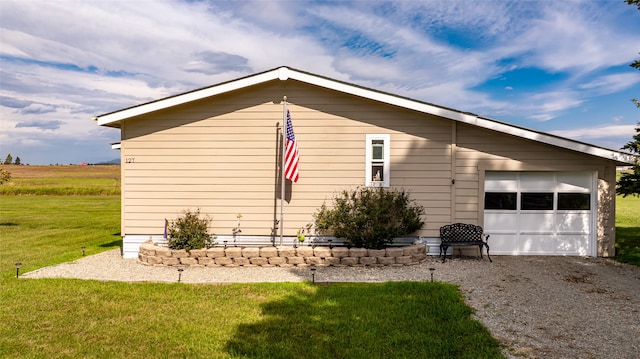
[[[215,242],[209,234],[211,221],[209,216],[200,218],[200,209],[185,210],[168,228],[169,248],[191,250],[213,246]]]

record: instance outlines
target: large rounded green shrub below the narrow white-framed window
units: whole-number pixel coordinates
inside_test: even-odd
[[[404,191],[360,187],[342,191],[314,214],[319,234],[344,238],[355,247],[382,249],[394,238],[424,225],[424,207],[415,205]]]

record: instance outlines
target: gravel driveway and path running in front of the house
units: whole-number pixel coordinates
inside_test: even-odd
[[[430,257],[407,267],[324,267],[319,282],[434,279],[460,285],[508,358],[640,358],[640,267],[581,257]],[[118,250],[42,268],[23,278],[175,282],[177,268],[122,259]],[[185,268],[185,283],[311,280],[309,268]]]

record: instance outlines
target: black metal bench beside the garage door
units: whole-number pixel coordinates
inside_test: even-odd
[[[484,237],[484,240],[483,240]],[[440,227],[440,255],[442,255],[442,263],[447,258],[447,250],[451,246],[478,246],[480,249],[480,258],[482,258],[482,247],[487,247],[487,257],[489,262],[489,245],[487,240],[488,234],[482,233],[482,227],[473,224],[454,223]],[[453,253],[451,253],[453,257]]]

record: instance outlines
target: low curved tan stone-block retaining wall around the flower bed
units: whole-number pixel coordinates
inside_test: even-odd
[[[426,245],[386,249],[347,247],[213,247],[172,250],[152,242],[140,246],[138,259],[146,265],[163,266],[404,266],[427,258]]]

